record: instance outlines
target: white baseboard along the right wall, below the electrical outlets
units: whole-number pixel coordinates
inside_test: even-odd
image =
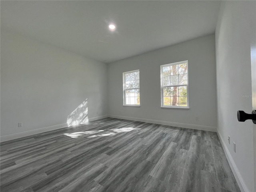
[[[228,164],[229,164],[229,166],[230,166],[230,168],[231,168],[231,170],[232,170],[232,172],[233,172],[233,174],[236,178],[236,182],[237,182],[240,190],[242,192],[249,192],[249,190],[246,187],[246,184],[244,183],[244,180],[243,180],[243,178],[242,178],[242,176],[241,176],[241,174],[240,174],[240,172],[239,172],[239,170],[238,170],[238,168],[237,168],[237,166],[236,166],[236,164],[235,164],[235,162],[234,162],[234,160],[233,160],[233,158],[232,158],[232,156],[231,156],[231,154],[228,150],[228,147],[226,146],[226,143],[224,142],[222,136],[219,134],[218,131],[217,131],[217,134],[218,134],[218,137],[220,138],[220,142],[221,142],[222,148],[224,149],[224,152],[226,154]]]

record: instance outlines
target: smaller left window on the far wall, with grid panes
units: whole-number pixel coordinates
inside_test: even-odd
[[[140,70],[123,73],[124,105],[140,106]]]

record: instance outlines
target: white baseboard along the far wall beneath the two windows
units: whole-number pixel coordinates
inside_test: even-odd
[[[145,123],[154,123],[154,124],[160,124],[160,125],[168,125],[168,126],[174,126],[174,127],[217,132],[216,127],[208,127],[208,126],[202,126],[202,125],[192,125],[192,124],[185,124],[185,123],[176,123],[176,122],[169,122],[169,121],[160,121],[160,120],[152,120],[152,119],[118,116],[118,115],[109,115],[109,117],[117,118],[117,119],[132,120],[132,121],[140,121]]]

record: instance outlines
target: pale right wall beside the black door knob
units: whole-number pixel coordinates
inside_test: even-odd
[[[236,112],[252,111],[250,45],[256,40],[255,33],[252,36],[255,10],[255,1],[224,1],[216,27],[218,134],[233,161],[240,188],[250,192],[256,190],[252,121],[238,122]]]

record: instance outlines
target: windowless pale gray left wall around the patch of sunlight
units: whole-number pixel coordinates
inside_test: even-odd
[[[107,115],[106,73],[104,63],[1,28],[1,137]]]

